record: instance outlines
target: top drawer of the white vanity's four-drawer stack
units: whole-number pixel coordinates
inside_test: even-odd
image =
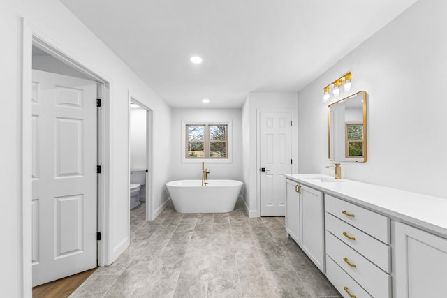
[[[390,218],[332,195],[325,195],[325,210],[383,243],[390,244]]]

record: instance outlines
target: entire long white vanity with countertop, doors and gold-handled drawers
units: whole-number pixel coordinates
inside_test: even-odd
[[[285,176],[286,230],[343,297],[447,297],[445,198]]]

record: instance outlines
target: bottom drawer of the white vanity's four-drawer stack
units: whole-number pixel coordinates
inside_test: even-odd
[[[357,298],[372,298],[356,281],[346,274],[328,255],[326,255],[326,276],[344,298],[351,298],[348,294]]]

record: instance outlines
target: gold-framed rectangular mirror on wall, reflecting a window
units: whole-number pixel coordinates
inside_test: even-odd
[[[328,105],[330,161],[367,161],[366,91]]]

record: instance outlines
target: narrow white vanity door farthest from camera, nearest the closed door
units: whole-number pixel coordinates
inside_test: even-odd
[[[300,194],[298,184],[286,179],[286,230],[300,244]]]

